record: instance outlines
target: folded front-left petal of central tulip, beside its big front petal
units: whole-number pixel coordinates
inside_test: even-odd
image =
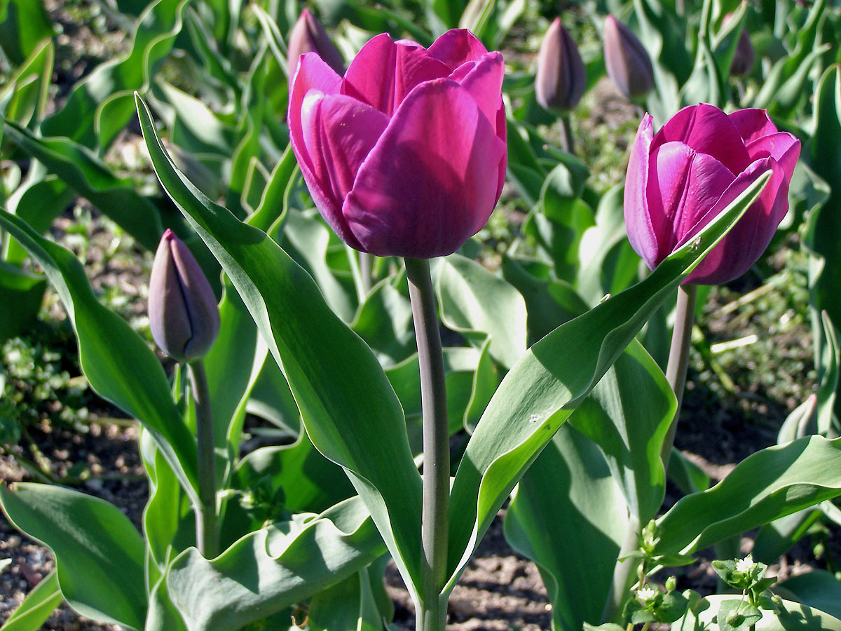
[[[304,98],[301,123],[312,163],[312,172],[304,173],[304,180],[310,191],[320,192],[313,199],[327,223],[342,241],[354,245],[341,215],[341,204],[359,166],[389,124],[389,117],[354,98],[325,96],[312,90]]]

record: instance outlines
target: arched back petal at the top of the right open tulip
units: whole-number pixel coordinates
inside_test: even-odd
[[[674,114],[654,137],[652,151],[671,141],[716,158],[733,173],[742,172],[751,162],[736,125],[721,109],[707,103]]]

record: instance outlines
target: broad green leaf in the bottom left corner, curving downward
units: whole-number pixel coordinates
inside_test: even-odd
[[[9,521],[56,554],[61,594],[87,618],[143,628],[145,546],[113,504],[61,486],[0,485]]]

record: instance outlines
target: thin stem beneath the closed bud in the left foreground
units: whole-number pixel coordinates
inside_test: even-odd
[[[196,547],[205,559],[219,554],[219,532],[216,528],[216,464],[214,462],[213,414],[210,411],[208,378],[204,362],[188,363],[190,387],[196,402],[196,436],[198,447],[198,501],[196,507]]]

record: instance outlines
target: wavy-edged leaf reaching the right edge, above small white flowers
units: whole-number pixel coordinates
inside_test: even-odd
[[[655,554],[688,554],[841,495],[841,438],[812,436],[753,453],[659,519]]]

